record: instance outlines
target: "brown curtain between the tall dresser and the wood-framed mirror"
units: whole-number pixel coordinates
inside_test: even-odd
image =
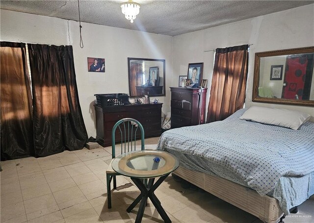
[[[216,49],[207,123],[221,121],[243,108],[248,45]]]

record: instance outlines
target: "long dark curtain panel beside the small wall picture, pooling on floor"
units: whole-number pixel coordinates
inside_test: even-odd
[[[82,149],[87,132],[78,101],[72,46],[28,44],[37,157]]]

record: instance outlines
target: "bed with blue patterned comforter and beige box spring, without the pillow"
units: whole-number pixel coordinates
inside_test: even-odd
[[[298,130],[240,120],[170,129],[157,149],[176,155],[183,179],[276,223],[314,194],[314,123]]]

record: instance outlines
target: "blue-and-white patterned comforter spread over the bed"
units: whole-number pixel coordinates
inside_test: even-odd
[[[228,172],[227,178],[260,195],[273,191],[281,176],[314,172],[314,123],[292,130],[240,120],[245,110],[224,121],[170,129],[161,135],[158,149],[200,157],[203,161],[190,166],[213,166],[210,172],[222,177]]]

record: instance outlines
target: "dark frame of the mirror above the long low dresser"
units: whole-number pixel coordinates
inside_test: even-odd
[[[162,62],[163,64],[163,68],[159,68],[159,71],[162,70],[163,71],[163,88],[162,88],[162,94],[150,94],[149,96],[153,96],[153,97],[158,97],[158,96],[165,96],[166,95],[166,90],[165,90],[165,86],[166,86],[166,60],[165,59],[147,59],[147,58],[134,58],[134,57],[128,57],[128,73],[129,73],[129,92],[130,92],[130,97],[131,98],[137,98],[137,97],[143,97],[144,95],[132,95],[131,94],[131,67],[130,67],[130,62],[131,60],[144,60],[144,61],[157,61],[157,62]],[[159,77],[160,78],[160,77]],[[145,87],[145,86],[143,86]],[[147,87],[152,87],[152,86],[147,86]],[[155,86],[153,86],[155,87]]]

